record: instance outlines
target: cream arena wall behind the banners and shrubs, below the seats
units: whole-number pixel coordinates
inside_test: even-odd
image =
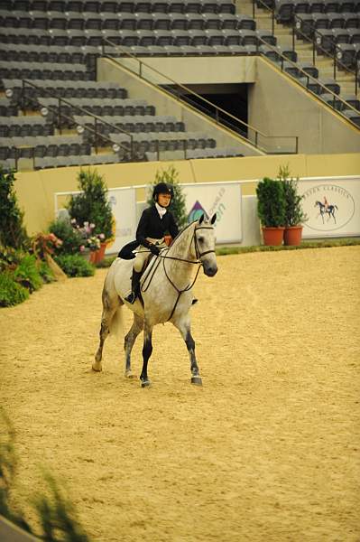
[[[219,182],[276,177],[280,165],[289,164],[291,174],[300,177],[322,177],[360,174],[360,154],[291,154],[187,160],[97,166],[109,188],[151,184],[157,171],[173,164],[180,182]],[[15,191],[24,210],[24,223],[29,234],[45,231],[54,219],[57,192],[78,190],[79,167],[56,168],[15,174]],[[254,195],[256,182],[245,183],[243,195]],[[143,193],[138,193],[139,201]]]

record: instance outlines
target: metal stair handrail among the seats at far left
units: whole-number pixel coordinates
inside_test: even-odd
[[[88,109],[84,109],[83,107],[80,107],[80,106],[77,106],[77,105],[74,105],[73,103],[71,103],[69,100],[65,99],[65,98],[62,98],[62,97],[59,97],[57,95],[55,95],[53,92],[51,92],[50,90],[47,90],[47,89],[41,89],[40,87],[38,87],[37,85],[35,85],[34,83],[32,83],[32,81],[29,81],[28,79],[21,79],[22,81],[22,94],[21,94],[21,109],[23,111],[23,113],[25,113],[25,107],[24,107],[24,103],[25,103],[25,87],[26,85],[32,87],[33,89],[38,89],[38,90],[42,90],[42,92],[45,92],[45,94],[47,94],[49,96],[49,98],[56,98],[59,100],[59,106],[61,105],[61,103],[64,103],[70,107],[73,107],[75,109],[77,109],[78,111],[80,111],[81,113],[84,113],[85,115],[87,115],[88,117],[93,117],[94,119],[94,126],[95,128],[90,128],[89,126],[82,126],[82,125],[79,125],[79,126],[82,126],[84,128],[84,130],[88,130],[88,132],[91,132],[93,134],[95,134],[95,152],[96,154],[97,153],[97,138],[98,136],[101,138],[101,139],[104,139],[106,141],[108,141],[111,145],[119,145],[119,147],[122,147],[125,151],[127,151],[127,147],[123,144],[121,144],[120,142],[115,142],[115,141],[112,141],[109,137],[107,137],[106,135],[103,135],[101,133],[99,133],[97,131],[97,124],[100,123],[100,124],[103,124],[103,125],[106,125],[106,126],[110,126],[112,129],[114,129],[115,131],[118,131],[118,132],[122,132],[124,133],[125,135],[128,135],[129,138],[130,138],[130,153],[131,153],[131,161],[134,160],[134,136],[130,133],[130,132],[127,132],[126,130],[124,130],[123,128],[120,128],[118,126],[115,126],[115,125],[112,125],[111,123],[109,122],[106,122],[106,120],[103,120],[101,117],[98,117],[97,115],[94,115],[93,113],[91,113],[90,111],[88,111]],[[51,107],[51,106],[46,106],[46,105],[43,105],[41,103],[41,99],[42,98],[32,98],[32,97],[26,97],[27,100],[30,100],[32,101],[33,103],[36,103],[36,104],[39,104],[41,107],[45,107],[46,109],[50,110],[51,112],[55,113],[56,114],[56,109]],[[66,118],[68,120],[71,120],[72,122],[74,121],[74,119],[72,117],[69,117],[68,115],[65,115],[64,113],[61,113],[60,112],[60,107],[58,107],[58,116],[59,116],[59,119],[62,118]],[[59,131],[60,131],[60,135],[61,135],[61,126],[59,128]]]

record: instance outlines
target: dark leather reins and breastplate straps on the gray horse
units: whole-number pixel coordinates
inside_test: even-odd
[[[171,286],[176,290],[177,294],[178,294],[178,297],[175,301],[175,304],[174,306],[172,307],[172,311],[171,311],[171,314],[167,320],[167,322],[169,322],[169,320],[171,320],[172,316],[173,316],[173,313],[175,313],[175,310],[176,310],[176,307],[178,306],[178,303],[179,303],[179,300],[180,300],[180,296],[181,294],[183,294],[184,292],[188,292],[192,287],[193,285],[195,285],[197,279],[198,279],[198,272],[200,270],[200,266],[202,265],[202,262],[200,260],[201,257],[203,256],[206,256],[207,254],[210,254],[211,252],[214,252],[215,253],[215,250],[205,250],[204,252],[201,252],[198,250],[198,238],[196,236],[196,232],[198,231],[198,229],[212,229],[210,226],[199,226],[198,228],[195,228],[194,229],[194,233],[192,235],[192,238],[190,240],[190,247],[191,247],[191,243],[192,241],[194,240],[194,245],[195,245],[195,253],[196,253],[196,257],[197,259],[196,260],[189,260],[189,259],[186,259],[186,258],[181,258],[181,257],[172,257],[172,256],[166,256],[166,254],[162,254],[160,253],[159,255],[157,255],[157,257],[159,258],[162,258],[162,259],[159,259],[158,262],[157,262],[157,265],[156,265],[156,260],[154,262],[154,265],[152,266],[151,269],[149,269],[149,273],[144,277],[143,279],[143,287],[142,287],[142,292],[146,292],[147,289],[149,288],[149,286],[151,285],[152,283],[152,278],[157,270],[157,268],[159,267],[161,261],[162,261],[162,266],[163,266],[163,270],[164,270],[164,274],[166,276],[166,278],[168,279],[168,281],[170,282]],[[169,248],[166,248],[166,252],[169,250]],[[140,251],[139,251],[140,252]],[[151,252],[150,250],[149,251],[145,251],[145,250],[142,250],[141,252]],[[171,260],[175,260],[175,261],[179,261],[179,262],[184,262],[184,263],[187,263],[187,264],[198,264],[198,270],[196,272],[196,275],[195,275],[195,278],[192,282],[189,283],[189,285],[187,285],[183,290],[180,290],[178,288],[177,285],[175,285],[173,283],[173,281],[171,280],[171,277],[169,276],[167,270],[166,270],[166,267],[165,267],[165,260],[166,259],[171,259]],[[151,273],[152,272],[152,273]],[[144,283],[145,281],[148,281],[147,285],[144,287]]]

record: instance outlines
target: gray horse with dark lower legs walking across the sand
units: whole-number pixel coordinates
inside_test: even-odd
[[[92,365],[94,370],[102,369],[104,341],[122,321],[122,307],[125,304],[134,313],[133,325],[125,336],[125,376],[133,377],[131,351],[136,337],[143,331],[143,370],[140,379],[143,388],[151,385],[147,366],[152,355],[152,328],[158,323],[171,322],[180,331],[189,351],[191,382],[202,384],[195,356],[195,341],[190,330],[189,309],[194,299],[192,286],[200,266],[207,276],[217,274],[216,218],[214,215],[211,220],[205,220],[202,216],[192,222],[173,240],[170,248],[152,257],[141,279],[141,297],[134,304],[125,301],[131,289],[133,260],[115,259],[107,273],[102,294],[100,344]]]

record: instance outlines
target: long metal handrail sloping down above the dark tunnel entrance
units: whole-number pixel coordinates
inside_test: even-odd
[[[140,59],[138,59],[134,54],[132,54],[131,52],[129,51],[126,51],[125,49],[123,49],[120,45],[117,45],[115,44],[114,42],[111,42],[110,40],[108,40],[107,38],[104,38],[103,40],[103,47],[102,47],[102,51],[103,51],[103,57],[105,58],[109,58],[110,60],[114,61],[115,59],[113,57],[111,57],[109,54],[106,54],[106,51],[105,51],[105,46],[106,46],[106,43],[108,43],[109,45],[111,45],[113,48],[115,48],[116,51],[120,51],[122,52],[125,57],[129,57],[131,59],[133,59],[134,61],[136,61],[139,65],[139,71],[137,73],[137,75],[141,78],[141,79],[144,79],[143,77],[143,67],[146,67],[148,68],[149,70],[152,70],[154,73],[156,73],[157,75],[161,76],[162,79],[167,79],[168,81],[170,81],[171,85],[175,85],[177,88],[181,89],[181,90],[184,90],[187,94],[189,95],[192,95],[193,97],[196,97],[198,100],[200,100],[201,102],[207,104],[208,106],[210,107],[213,107],[216,111],[216,117],[215,117],[215,122],[217,125],[219,126],[224,126],[226,127],[226,129],[230,129],[232,132],[235,133],[236,136],[239,136],[239,134],[237,132],[235,132],[234,129],[232,128],[228,128],[227,126],[223,125],[221,120],[220,120],[220,117],[219,117],[219,113],[225,115],[226,117],[229,117],[231,118],[232,120],[234,120],[236,123],[239,123],[241,126],[245,126],[246,127],[246,131],[248,129],[250,130],[253,130],[254,131],[254,135],[255,135],[255,143],[252,142],[250,139],[248,139],[247,137],[245,137],[246,141],[250,142],[252,145],[254,145],[256,148],[262,150],[263,152],[266,153],[266,149],[264,149],[263,147],[261,147],[260,145],[258,145],[258,137],[259,135],[263,136],[264,138],[267,138],[267,139],[275,139],[275,138],[291,138],[291,139],[294,139],[295,140],[295,154],[298,153],[298,148],[299,148],[299,141],[298,141],[298,136],[297,135],[267,135],[267,134],[264,134],[263,132],[261,132],[260,130],[258,130],[257,128],[255,128],[254,126],[251,126],[251,125],[248,125],[247,123],[245,123],[245,121],[241,120],[240,118],[238,117],[235,117],[234,115],[232,115],[231,113],[229,113],[228,111],[226,111],[225,109],[223,109],[222,107],[217,107],[215,104],[213,104],[212,102],[210,102],[207,98],[203,98],[202,96],[200,96],[199,94],[197,94],[196,92],[194,92],[192,89],[189,89],[189,87],[186,87],[185,85],[179,83],[178,81],[175,81],[174,79],[171,79],[171,77],[165,75],[164,73],[162,73],[161,71],[159,70],[156,70],[155,68],[153,68],[150,64],[148,64],[147,62],[145,61],[142,61]],[[127,67],[125,67],[127,68]],[[148,80],[148,79],[146,79]],[[148,81],[150,82],[151,84],[154,84],[152,81]],[[158,86],[158,85],[156,85]],[[164,89],[162,87],[162,90],[169,93],[169,94],[173,94],[171,92],[169,92],[167,89]],[[176,98],[178,98],[179,100],[181,100],[181,97],[180,97],[180,93],[175,93],[175,96]],[[196,110],[196,107],[192,107],[192,108],[195,108]]]

